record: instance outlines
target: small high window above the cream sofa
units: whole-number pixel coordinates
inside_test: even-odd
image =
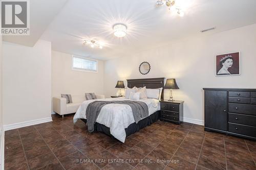
[[[76,70],[76,71],[97,72],[98,71],[98,61],[73,55],[72,69]]]

